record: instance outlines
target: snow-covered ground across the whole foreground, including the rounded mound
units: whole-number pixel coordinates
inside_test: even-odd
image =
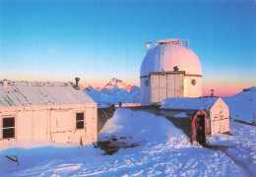
[[[127,145],[142,141],[145,145],[121,148],[112,155],[102,155],[104,151],[93,145],[39,141],[1,145],[0,176],[254,176],[256,127],[230,122],[230,130],[231,136],[212,137],[209,148],[191,146],[165,118],[118,108],[99,140],[113,136]],[[4,155],[17,155],[20,164]]]

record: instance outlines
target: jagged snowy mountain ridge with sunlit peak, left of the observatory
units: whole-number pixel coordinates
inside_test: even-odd
[[[105,103],[106,105],[122,103],[139,103],[140,88],[124,83],[122,80],[112,78],[104,88],[98,89],[89,85],[83,89],[97,103]]]

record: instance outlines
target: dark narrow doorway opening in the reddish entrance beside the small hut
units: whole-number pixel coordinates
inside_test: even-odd
[[[198,115],[198,122],[197,122],[197,142],[200,145],[206,144],[206,134],[205,134],[205,115]]]

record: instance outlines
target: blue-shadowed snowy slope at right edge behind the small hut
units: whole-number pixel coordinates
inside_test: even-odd
[[[223,99],[229,107],[232,119],[252,123],[254,114],[256,116],[256,91],[255,87],[244,90],[246,91],[241,91]]]

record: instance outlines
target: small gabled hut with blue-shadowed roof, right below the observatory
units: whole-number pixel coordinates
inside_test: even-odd
[[[211,135],[229,132],[229,108],[221,97],[171,97],[164,101],[160,109],[206,110],[210,118]],[[203,129],[207,118],[204,116]],[[197,124],[197,123],[196,123]]]

